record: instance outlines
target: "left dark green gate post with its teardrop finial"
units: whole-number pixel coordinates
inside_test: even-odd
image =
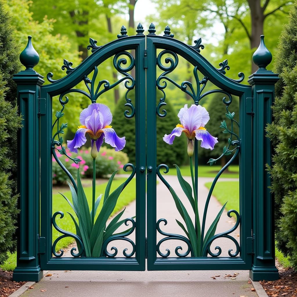
[[[13,76],[17,83],[18,108],[23,116],[23,128],[18,134],[18,247],[17,267],[13,271],[15,281],[35,281],[42,277],[39,260],[40,222],[40,142],[39,96],[43,76],[33,70],[39,55],[28,37],[28,44],[20,54],[26,67]]]

